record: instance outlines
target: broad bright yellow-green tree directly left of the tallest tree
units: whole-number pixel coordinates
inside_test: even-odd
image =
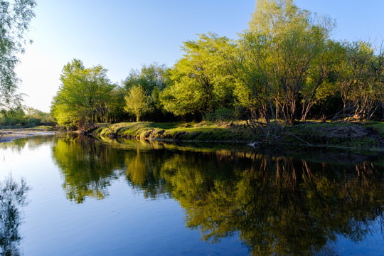
[[[233,78],[228,71],[235,45],[214,33],[183,43],[184,56],[170,70],[173,84],[161,95],[164,108],[179,116],[214,112],[233,103]]]

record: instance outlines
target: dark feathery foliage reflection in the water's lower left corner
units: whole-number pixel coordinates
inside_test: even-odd
[[[21,255],[18,244],[21,235],[20,207],[26,205],[26,182],[16,183],[11,176],[0,182],[0,255]]]

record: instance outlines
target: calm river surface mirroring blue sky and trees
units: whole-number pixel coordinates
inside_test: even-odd
[[[0,255],[384,255],[383,157],[208,146],[0,144]]]

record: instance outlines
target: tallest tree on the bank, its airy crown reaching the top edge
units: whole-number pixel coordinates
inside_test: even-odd
[[[328,18],[316,19],[292,0],[258,0],[250,29],[240,38],[240,47],[246,50],[240,55],[240,67],[247,72],[255,70],[255,75],[238,77],[240,86],[248,91],[248,95],[240,96],[255,97],[252,104],[259,106],[260,115],[266,119],[274,117],[275,105],[277,114],[292,124],[303,93],[316,94],[316,88],[325,81],[317,80],[321,84],[314,86],[308,78],[311,72],[319,72],[313,67],[325,56],[332,27]],[[252,61],[255,63],[249,63]]]

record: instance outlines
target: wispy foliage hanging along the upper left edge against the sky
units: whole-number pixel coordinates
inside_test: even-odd
[[[35,16],[35,6],[34,0],[0,0],[0,107],[21,100],[16,95],[18,78],[14,69],[19,62],[16,54],[24,52],[24,36]]]

